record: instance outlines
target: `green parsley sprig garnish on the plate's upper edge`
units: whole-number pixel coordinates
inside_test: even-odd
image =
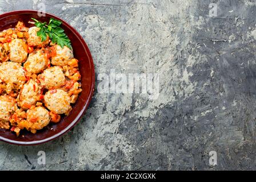
[[[49,24],[46,22],[39,22],[35,18],[31,18],[35,21],[35,26],[39,27],[40,30],[37,32],[37,36],[41,37],[42,42],[46,40],[47,35],[50,37],[51,42],[57,43],[62,48],[64,46],[71,47],[69,37],[65,34],[64,30],[60,27],[62,22],[60,20],[50,18]]]

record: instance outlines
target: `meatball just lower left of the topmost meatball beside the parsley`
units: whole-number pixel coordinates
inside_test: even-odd
[[[13,39],[9,43],[10,60],[16,63],[24,63],[27,59],[27,44],[22,39]]]

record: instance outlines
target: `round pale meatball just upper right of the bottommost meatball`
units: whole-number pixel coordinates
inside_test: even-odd
[[[70,97],[64,90],[49,90],[45,94],[45,106],[55,114],[68,114],[71,110]]]

